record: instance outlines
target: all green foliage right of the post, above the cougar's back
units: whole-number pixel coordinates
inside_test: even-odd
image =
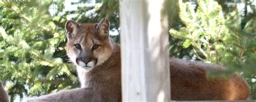
[[[256,76],[255,17],[243,22],[244,17],[235,6],[233,12],[223,13],[221,6],[213,0],[198,1],[197,9],[180,0],[179,8],[185,26],[170,29],[171,36],[183,39],[183,47],[192,47],[198,59],[228,68],[226,73],[210,74],[241,74],[251,85],[255,99],[256,83],[252,81]]]

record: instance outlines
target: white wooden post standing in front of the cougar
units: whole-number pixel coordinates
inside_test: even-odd
[[[170,101],[163,0],[120,0],[123,101]]]

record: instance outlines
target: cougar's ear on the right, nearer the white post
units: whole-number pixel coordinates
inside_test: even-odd
[[[96,31],[98,32],[99,36],[102,36],[103,38],[109,37],[109,26],[109,21],[106,18],[102,18],[102,20],[96,26]]]

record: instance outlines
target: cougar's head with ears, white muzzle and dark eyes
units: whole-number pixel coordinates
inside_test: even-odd
[[[109,38],[109,26],[106,18],[98,24],[66,22],[67,55],[78,68],[90,71],[111,56],[113,45]]]

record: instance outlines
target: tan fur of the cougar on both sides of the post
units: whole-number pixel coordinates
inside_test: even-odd
[[[31,98],[29,101],[122,101],[120,46],[109,37],[109,25],[107,19],[99,24],[68,21],[67,53],[77,65],[82,88]],[[77,49],[75,44],[80,44],[82,48]],[[99,45],[97,50],[91,50],[94,44]],[[86,68],[83,67],[85,59],[91,62],[98,60],[98,63]],[[248,97],[248,85],[239,76],[207,79],[206,70],[224,69],[171,58],[172,100],[240,100]]]

